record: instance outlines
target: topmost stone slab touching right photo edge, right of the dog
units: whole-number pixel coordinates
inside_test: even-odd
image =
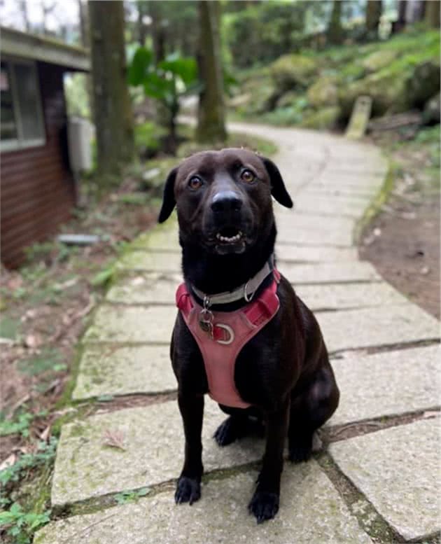
[[[412,304],[318,312],[328,351],[391,346],[440,337],[440,323]]]

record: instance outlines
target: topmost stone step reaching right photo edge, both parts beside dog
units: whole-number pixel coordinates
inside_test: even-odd
[[[85,343],[169,344],[176,309],[170,306],[102,305],[83,338]],[[439,322],[412,304],[317,312],[330,352],[433,340]]]

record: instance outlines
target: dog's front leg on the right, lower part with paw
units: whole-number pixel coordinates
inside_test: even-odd
[[[267,414],[267,442],[257,488],[248,509],[258,523],[272,519],[279,510],[280,477],[283,469],[283,446],[288,432],[290,398]]]

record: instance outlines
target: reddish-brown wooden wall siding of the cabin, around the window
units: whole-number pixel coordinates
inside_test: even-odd
[[[73,177],[66,148],[63,71],[38,63],[46,143],[1,153],[1,262],[14,268],[23,249],[43,242],[70,217]]]

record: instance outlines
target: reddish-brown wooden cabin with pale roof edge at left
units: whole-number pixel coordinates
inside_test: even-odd
[[[1,263],[68,221],[76,191],[69,167],[63,76],[88,71],[87,50],[1,28]]]

